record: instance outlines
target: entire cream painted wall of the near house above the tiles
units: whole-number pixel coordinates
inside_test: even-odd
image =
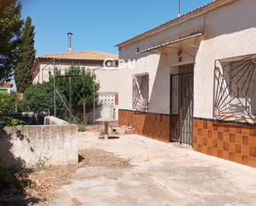
[[[176,49],[186,52],[183,62],[194,58],[194,117],[213,117],[215,60],[256,53],[256,1],[239,0],[207,15],[173,26],[154,36],[120,48],[121,60],[136,60],[135,69],[120,69],[119,108],[133,109],[133,74],[149,73],[149,112],[169,113],[170,74],[177,73]],[[170,41],[178,34],[204,27],[203,36],[173,45],[174,49],[158,50],[158,54],[137,55],[140,50]],[[196,48],[195,46],[198,46]]]

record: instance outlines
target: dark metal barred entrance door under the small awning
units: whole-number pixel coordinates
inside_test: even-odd
[[[170,141],[192,145],[193,73],[171,75]]]

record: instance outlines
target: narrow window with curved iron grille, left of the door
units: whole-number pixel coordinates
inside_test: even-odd
[[[145,74],[133,75],[133,109],[147,112],[149,76]]]

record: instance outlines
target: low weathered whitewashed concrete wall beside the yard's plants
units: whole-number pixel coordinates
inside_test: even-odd
[[[7,167],[41,167],[78,163],[75,125],[0,128],[0,156]]]

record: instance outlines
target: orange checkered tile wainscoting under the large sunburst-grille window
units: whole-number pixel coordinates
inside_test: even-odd
[[[193,149],[256,167],[256,127],[194,118]]]

